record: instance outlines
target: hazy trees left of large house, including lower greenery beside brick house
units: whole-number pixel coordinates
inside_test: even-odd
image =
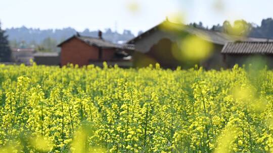
[[[76,34],[77,31],[73,28],[40,30],[23,26],[21,28],[8,28],[6,33],[9,35],[9,42],[13,48],[27,47],[36,48],[38,51],[58,51],[57,45]],[[78,33],[83,36],[98,37],[98,31],[85,29]],[[134,35],[130,30],[118,33],[111,29],[105,29],[103,32],[103,38],[114,43],[126,41],[133,37]]]

